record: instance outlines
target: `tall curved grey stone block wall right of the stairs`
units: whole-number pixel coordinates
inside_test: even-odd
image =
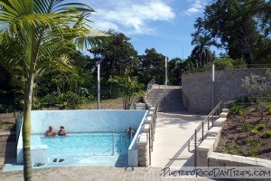
[[[215,71],[214,105],[220,101],[236,100],[248,95],[242,85],[242,79],[250,74],[264,76],[266,69],[240,69]],[[188,110],[209,113],[211,108],[212,82],[211,72],[198,72],[182,75],[182,92],[188,98]]]

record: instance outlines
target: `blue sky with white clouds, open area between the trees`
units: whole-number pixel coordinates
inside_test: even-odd
[[[81,0],[96,11],[90,17],[100,30],[113,29],[132,38],[138,54],[154,48],[169,57],[186,59],[192,52],[193,24],[206,0]],[[211,49],[212,51],[215,49]],[[217,51],[216,51],[217,52]]]

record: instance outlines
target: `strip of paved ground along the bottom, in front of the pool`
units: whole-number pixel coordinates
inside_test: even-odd
[[[185,178],[184,176],[172,176],[166,178],[160,176],[159,167],[51,167],[33,169],[33,180],[67,180],[67,181],[155,181],[155,180],[210,180],[208,178]],[[23,171],[3,173],[0,171],[1,181],[23,181]]]

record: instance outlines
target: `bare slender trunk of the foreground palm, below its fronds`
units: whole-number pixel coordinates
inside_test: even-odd
[[[33,75],[28,78],[24,89],[23,107],[23,178],[32,180],[32,160],[31,160],[31,110],[33,99]]]

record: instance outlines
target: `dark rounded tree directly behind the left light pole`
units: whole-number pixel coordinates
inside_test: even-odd
[[[89,50],[94,55],[94,62],[100,63],[101,99],[117,98],[118,87],[115,84],[108,84],[108,79],[123,76],[126,69],[133,72],[138,64],[137,52],[129,42],[131,38],[113,30],[109,30],[107,33],[110,34],[107,42],[100,43]],[[97,72],[97,69],[94,72]]]

